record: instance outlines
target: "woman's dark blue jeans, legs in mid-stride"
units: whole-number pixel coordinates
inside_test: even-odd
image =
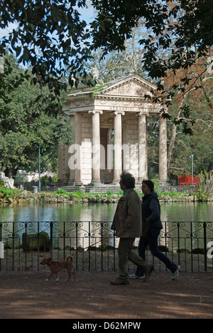
[[[158,248],[158,236],[160,235],[159,229],[152,229],[148,232],[147,238],[140,238],[139,245],[138,245],[138,255],[143,260],[146,260],[146,248],[149,246],[151,250],[151,254],[158,258],[160,261],[165,263],[166,267],[172,272],[175,273],[175,270],[178,269],[178,265],[175,265],[173,261],[171,261],[165,254],[160,252]],[[140,268],[136,270],[137,276],[143,276],[144,273]]]

